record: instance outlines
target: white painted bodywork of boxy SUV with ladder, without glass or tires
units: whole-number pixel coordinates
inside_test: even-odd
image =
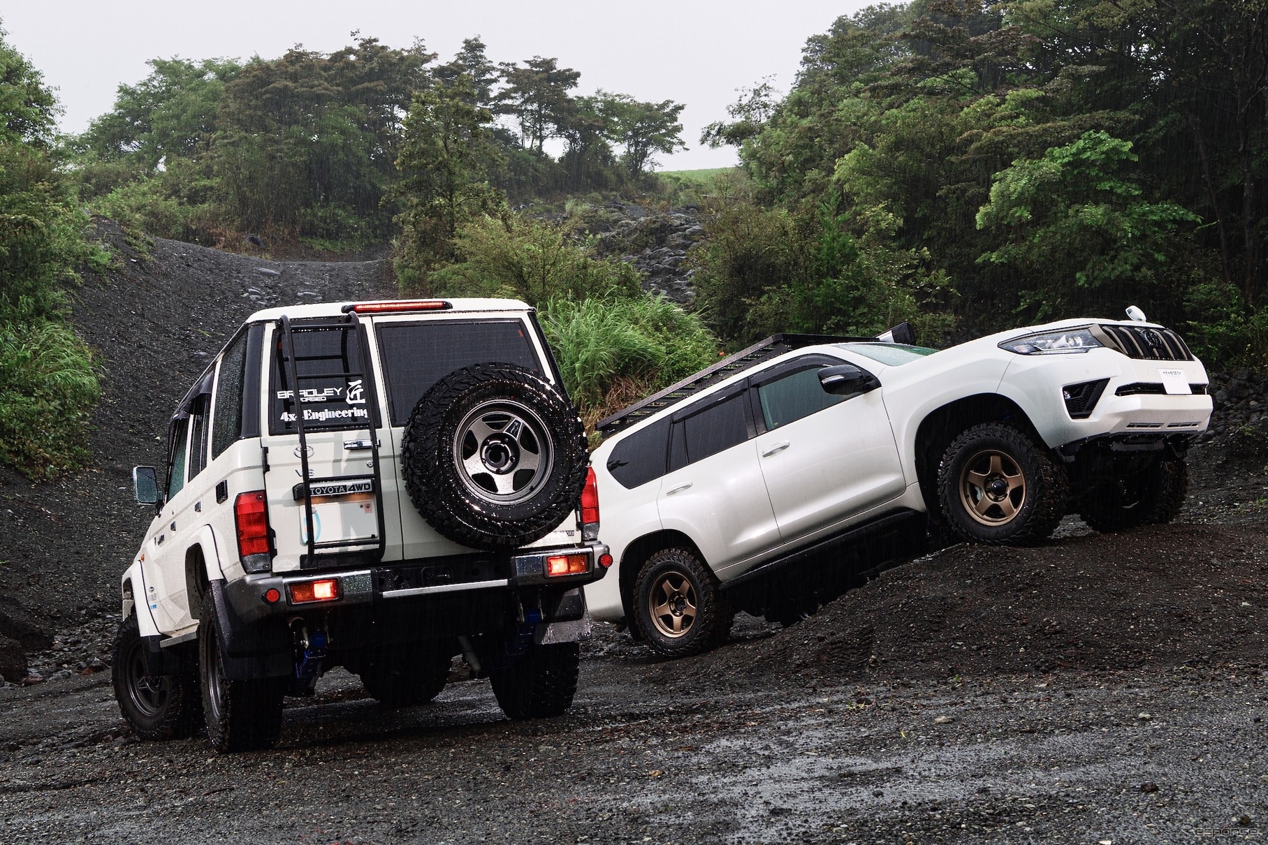
[[[378,326],[399,322],[443,322],[463,319],[508,319],[525,322],[525,337],[535,355],[541,375],[554,383],[555,371],[549,365],[548,350],[539,341],[536,331],[530,331],[526,321],[531,308],[517,300],[508,299],[451,299],[451,309],[443,313],[378,314],[363,315],[361,322],[370,331],[370,366],[375,384],[379,388],[380,402],[384,400],[384,371],[379,355],[379,345],[374,334]],[[209,460],[207,466],[165,502],[150,524],[146,540],[138,551],[138,557],[124,574],[124,581],[132,580],[138,622],[142,636],[157,633],[175,635],[197,625],[199,608],[189,607],[186,554],[200,547],[208,580],[236,580],[245,574],[238,557],[236,522],[233,514],[235,499],[240,493],[266,490],[270,516],[270,528],[275,532],[275,551],[273,573],[292,573],[301,569],[301,555],[306,554],[306,527],[303,503],[294,499],[293,488],[301,480],[302,461],[298,454],[297,433],[270,433],[270,352],[274,348],[276,326],[281,315],[290,319],[331,317],[331,304],[308,304],[285,308],[271,308],[256,312],[247,318],[246,324],[265,323],[264,355],[260,361],[260,414],[261,431],[259,437],[241,438],[228,445],[224,451]],[[223,351],[222,351],[223,353]],[[214,366],[219,366],[217,357]],[[219,379],[216,379],[219,384]],[[216,397],[208,398],[209,407],[216,407]],[[380,479],[383,484],[383,509],[387,528],[383,561],[460,555],[472,551],[436,532],[415,509],[410,495],[397,479],[401,436],[403,426],[392,426],[391,416],[380,414],[382,423],[377,429],[379,438]],[[204,442],[212,443],[216,436],[214,414],[208,414]],[[186,431],[186,442],[191,433]],[[313,467],[322,467],[321,476],[331,474],[364,475],[370,451],[346,450],[345,440],[366,438],[369,429],[311,429],[306,435],[309,461]],[[264,450],[268,450],[266,452]],[[210,455],[208,448],[207,455]],[[269,471],[264,471],[268,460]],[[227,495],[218,500],[217,484],[224,483]],[[160,488],[165,480],[158,479]],[[398,489],[399,488],[399,489]],[[314,497],[316,502],[316,497]],[[317,531],[320,540],[332,535],[364,536],[368,519],[377,524],[377,514],[364,512],[370,497],[364,500],[358,497],[341,497],[339,500],[323,503],[320,513],[333,516],[326,521],[326,533]],[[326,509],[323,511],[322,507]],[[654,503],[653,503],[654,507]],[[335,508],[331,512],[330,508]],[[342,511],[347,511],[344,513]],[[331,524],[335,523],[335,528]],[[172,527],[175,526],[175,528]],[[161,540],[160,540],[161,538]],[[544,549],[563,545],[576,545],[581,541],[577,514],[569,514],[559,527],[541,540],[527,543],[525,549]],[[127,606],[127,597],[123,598]],[[141,613],[139,608],[146,612]]]

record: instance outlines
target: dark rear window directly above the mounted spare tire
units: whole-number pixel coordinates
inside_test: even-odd
[[[454,370],[497,362],[541,372],[517,319],[393,323],[375,331],[393,426],[403,426],[422,394]]]

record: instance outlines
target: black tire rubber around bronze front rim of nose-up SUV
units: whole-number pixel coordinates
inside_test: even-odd
[[[983,526],[964,513],[960,503],[961,462],[981,448],[1007,452],[1026,480],[1026,499],[1018,516],[999,528]],[[1044,542],[1065,516],[1069,478],[1065,467],[1025,432],[1007,423],[981,423],[951,441],[938,464],[938,504],[942,518],[969,542],[992,546],[1033,546]]]

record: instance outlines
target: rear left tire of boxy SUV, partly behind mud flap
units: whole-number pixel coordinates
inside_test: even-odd
[[[216,607],[209,593],[198,618],[198,677],[212,747],[222,754],[271,749],[281,735],[281,697],[287,679],[226,678],[216,631]]]

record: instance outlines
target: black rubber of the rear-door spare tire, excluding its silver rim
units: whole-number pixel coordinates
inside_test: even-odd
[[[530,500],[515,505],[476,500],[451,452],[467,409],[500,397],[531,407],[553,440],[548,480]],[[586,429],[576,409],[553,384],[512,364],[479,364],[449,374],[424,394],[402,432],[401,473],[413,507],[437,532],[472,549],[515,549],[554,531],[576,509],[588,462]]]

